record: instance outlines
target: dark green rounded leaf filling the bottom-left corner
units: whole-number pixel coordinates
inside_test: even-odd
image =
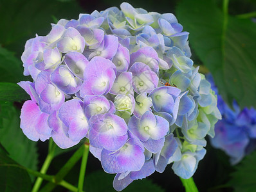
[[[24,153],[25,154],[25,153]],[[26,192],[31,189],[30,176],[10,157],[0,153],[0,191]]]

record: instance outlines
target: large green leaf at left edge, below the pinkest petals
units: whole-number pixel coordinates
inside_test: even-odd
[[[7,114],[5,117],[0,116],[2,120],[1,126],[3,126],[0,129],[1,144],[17,163],[32,170],[37,170],[38,154],[36,142],[29,140],[19,127],[20,111],[15,109],[11,102],[0,102],[1,106],[2,104]]]

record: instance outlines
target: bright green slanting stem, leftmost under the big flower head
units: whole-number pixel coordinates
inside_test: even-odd
[[[54,155],[54,149],[55,149],[55,146],[54,146],[54,143],[53,143],[53,140],[52,138],[50,138],[49,140],[49,150],[48,150],[48,155],[44,161],[44,164],[42,164],[42,168],[40,170],[40,173],[42,174],[45,174],[51,164],[51,161],[53,159],[53,155]],[[32,192],[37,192],[42,184],[42,177],[37,177],[37,180],[35,180],[35,184],[33,186],[33,189],[32,189]]]

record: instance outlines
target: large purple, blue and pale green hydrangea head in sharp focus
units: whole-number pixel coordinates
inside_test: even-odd
[[[60,148],[88,138],[117,191],[169,163],[184,179],[205,156],[221,118],[217,97],[193,67],[188,32],[172,13],[122,3],[60,19],[26,42],[19,85],[30,95],[21,129]]]

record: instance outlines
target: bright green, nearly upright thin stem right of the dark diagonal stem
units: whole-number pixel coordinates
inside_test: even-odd
[[[79,174],[79,180],[78,180],[78,192],[81,192],[84,186],[84,176],[86,174],[86,164],[87,164],[88,154],[89,154],[89,141],[86,140],[86,143],[84,144],[84,154],[82,156],[82,163],[80,167],[80,174]]]

